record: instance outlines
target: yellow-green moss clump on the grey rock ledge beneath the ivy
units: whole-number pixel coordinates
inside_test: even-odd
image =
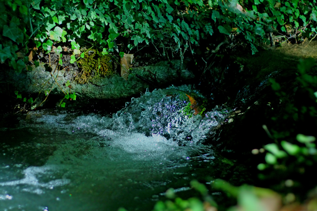
[[[113,75],[113,63],[109,55],[102,55],[101,52],[90,49],[85,53],[85,57],[78,61],[81,72],[75,77],[78,84],[95,82],[100,77],[110,77]]]

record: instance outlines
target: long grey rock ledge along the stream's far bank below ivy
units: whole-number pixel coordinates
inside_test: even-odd
[[[184,65],[180,68],[181,62],[178,60],[135,67],[132,69],[128,81],[125,81],[119,74],[114,74],[110,78],[100,77],[88,84],[75,83],[72,80],[76,74],[74,70],[69,69],[66,72],[61,69],[58,71],[58,67],[52,65],[51,72],[49,72],[50,69],[45,68],[45,65],[47,66],[47,64],[40,63],[32,71],[25,71],[20,75],[12,70],[4,70],[6,74],[0,77],[0,93],[3,94],[9,86],[12,92],[18,90],[31,94],[41,90],[44,93],[45,90],[51,89],[51,94],[63,96],[70,90],[71,93],[76,92],[78,97],[83,98],[117,99],[144,92],[149,86],[155,88],[154,86],[186,83],[194,78],[193,73]],[[68,80],[70,86],[65,85]]]

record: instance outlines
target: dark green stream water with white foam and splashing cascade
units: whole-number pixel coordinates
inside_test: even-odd
[[[42,110],[0,128],[0,211],[143,211],[169,188],[188,194],[213,173],[202,143],[228,112],[189,118],[188,102],[155,90],[113,117]]]

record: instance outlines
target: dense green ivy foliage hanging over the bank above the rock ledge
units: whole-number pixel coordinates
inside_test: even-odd
[[[296,41],[317,34],[316,0],[7,0],[0,12],[0,62],[17,73],[35,45],[50,52],[71,42],[74,59],[79,39],[107,54],[121,36],[130,50],[153,44],[182,58],[220,35],[242,34],[255,53],[270,32]]]

